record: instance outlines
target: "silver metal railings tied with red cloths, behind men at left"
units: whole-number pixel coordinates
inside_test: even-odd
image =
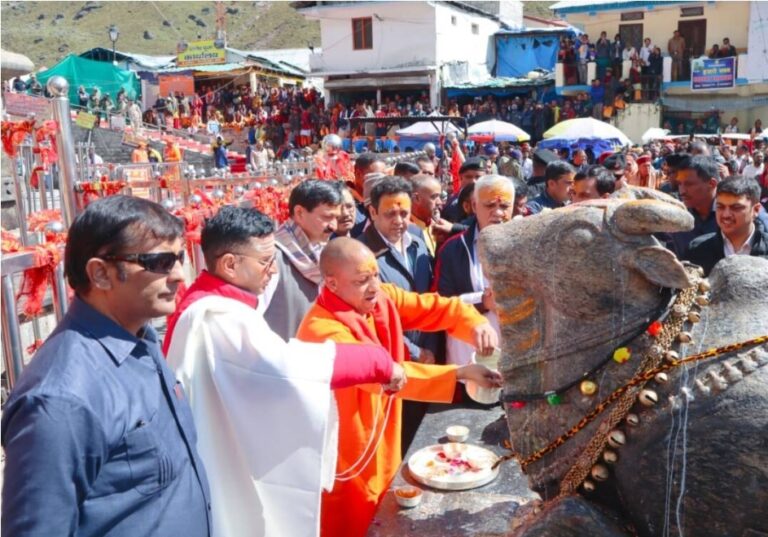
[[[272,160],[259,167],[248,164],[244,172],[233,172],[231,168],[205,169],[204,166],[195,167],[188,162],[92,164],[88,159],[88,150],[93,147],[93,143],[73,143],[66,87],[54,89],[58,91],[51,100],[51,106],[59,122],[59,162],[40,174],[37,187],[34,187],[33,170],[42,169],[42,163],[39,154],[34,151],[31,138],[17,147],[18,155],[13,160],[18,235],[23,246],[35,246],[45,241],[42,232],[29,229],[30,214],[46,209],[61,209],[61,224],[66,229],[84,209],[86,192],[99,197],[108,194],[94,188],[95,185],[104,185],[102,177],[106,177],[113,190],[117,185],[120,193],[151,199],[170,210],[198,204],[200,200],[193,198],[196,191],[204,192],[214,199],[231,193],[234,203],[247,203],[244,194],[249,189],[295,184],[312,177],[314,172],[315,160],[311,156]],[[389,165],[394,165],[423,154],[423,151],[418,151],[380,156]],[[185,264],[185,271],[188,276],[195,277],[203,270],[204,261],[199,246],[194,246],[192,253],[191,262]],[[51,268],[50,291],[44,297],[42,314],[27,318],[18,311],[16,295],[22,274],[29,269],[41,267],[39,263],[42,262],[33,250],[5,254],[2,258],[0,311],[3,365],[8,388],[13,387],[23,370],[30,345],[48,337],[52,327],[48,329],[46,325],[51,324],[49,321],[58,323],[67,311],[68,295],[63,262]]]

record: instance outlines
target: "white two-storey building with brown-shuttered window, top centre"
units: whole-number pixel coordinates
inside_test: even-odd
[[[440,104],[450,84],[490,77],[493,35],[522,26],[522,2],[294,2],[320,21],[322,52],[310,76],[322,77],[326,101],[395,94]]]

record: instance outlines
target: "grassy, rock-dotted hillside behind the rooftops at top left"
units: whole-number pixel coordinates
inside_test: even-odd
[[[224,2],[228,44],[234,48],[320,45],[320,26],[288,2]],[[117,50],[175,54],[182,40],[213,39],[214,2],[2,2],[4,50],[20,52],[38,68],[67,54],[112,48],[107,28],[120,31]]]

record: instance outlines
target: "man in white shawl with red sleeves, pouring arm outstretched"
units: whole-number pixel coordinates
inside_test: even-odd
[[[337,453],[331,390],[404,384],[379,346],[286,342],[271,329],[257,305],[277,272],[274,232],[255,209],[219,210],[201,233],[208,270],[165,338],[200,430],[217,537],[316,532]]]

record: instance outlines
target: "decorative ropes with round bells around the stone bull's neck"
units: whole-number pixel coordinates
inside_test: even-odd
[[[555,451],[558,447],[565,444],[568,440],[575,437],[587,425],[592,423],[609,407],[613,406],[606,420],[600,424],[594,436],[588,442],[586,448],[578,456],[576,462],[571,466],[560,483],[560,496],[566,496],[575,492],[583,485],[585,491],[594,490],[595,483],[588,479],[592,477],[595,481],[603,481],[608,478],[607,467],[598,463],[601,455],[607,463],[613,463],[617,460],[617,455],[610,448],[619,448],[626,442],[624,433],[616,427],[625,421],[630,426],[636,426],[640,423],[640,418],[636,414],[630,413],[630,410],[636,402],[645,407],[650,407],[658,402],[658,395],[655,391],[645,389],[645,385],[654,380],[663,384],[668,381],[666,372],[673,368],[692,364],[710,358],[717,358],[744,348],[768,343],[768,335],[755,337],[739,343],[733,343],[702,353],[694,354],[680,358],[679,354],[672,350],[675,342],[690,343],[691,334],[683,330],[685,323],[697,323],[701,319],[700,311],[696,308],[703,308],[709,304],[708,291],[709,283],[700,278],[701,273],[698,267],[688,267],[687,271],[694,282],[690,287],[678,293],[671,302],[671,306],[659,317],[659,319],[650,323],[645,334],[641,337],[652,338],[648,350],[643,356],[640,366],[635,374],[623,385],[616,388],[608,397],[598,403],[594,409],[587,413],[575,425],[569,428],[565,433],[551,441],[543,448],[537,450],[526,458],[521,458],[517,453],[510,453],[501,457],[496,466],[504,461],[517,459],[523,471],[526,468],[542,459],[544,456]],[[635,340],[637,338],[633,338]],[[534,399],[547,399],[550,405],[560,403],[560,394],[565,390],[571,389],[577,383],[580,383],[579,389],[583,395],[592,395],[597,391],[597,385],[589,377],[594,377],[598,370],[613,361],[621,364],[629,359],[631,350],[629,347],[620,346],[605,361],[601,362],[594,370],[586,373],[579,380],[569,383],[567,386],[556,391],[550,391],[542,394],[506,394],[504,400],[512,408],[521,408],[526,401]],[[731,366],[732,367],[732,366]],[[714,380],[713,380],[714,382]],[[696,381],[697,386],[702,390],[707,390],[702,381]],[[688,388],[683,388],[686,393]],[[687,395],[687,393],[686,393]]]

